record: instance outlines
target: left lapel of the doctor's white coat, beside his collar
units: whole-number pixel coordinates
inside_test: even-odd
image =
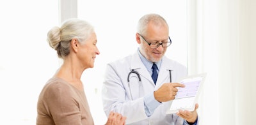
[[[152,80],[150,74],[148,73],[147,68],[142,63],[138,52],[136,52],[134,55],[132,55],[131,70],[132,69],[138,71],[138,73],[140,74],[141,77],[146,78],[151,84],[154,85],[154,81]]]

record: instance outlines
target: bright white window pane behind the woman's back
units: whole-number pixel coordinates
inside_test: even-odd
[[[46,41],[58,1],[0,1],[0,13],[0,124],[35,124],[38,95],[58,68]]]

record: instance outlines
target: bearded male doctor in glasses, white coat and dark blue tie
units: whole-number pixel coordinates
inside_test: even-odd
[[[164,56],[172,43],[166,20],[157,14],[144,15],[137,30],[140,48],[135,54],[107,65],[102,87],[104,112],[126,116],[126,124],[198,124],[198,104],[193,112],[166,115],[177,87],[184,87],[175,82],[187,75],[185,66]]]

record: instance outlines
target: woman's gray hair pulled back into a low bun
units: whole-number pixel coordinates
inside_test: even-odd
[[[47,33],[47,41],[57,51],[58,57],[64,59],[70,53],[70,41],[73,38],[81,43],[94,32],[93,26],[85,20],[70,18],[61,27],[52,27]]]

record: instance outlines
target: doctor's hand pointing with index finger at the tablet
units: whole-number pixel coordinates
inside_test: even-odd
[[[154,97],[159,102],[166,102],[173,100],[177,94],[176,87],[185,87],[179,83],[165,83],[157,91],[154,91]]]

